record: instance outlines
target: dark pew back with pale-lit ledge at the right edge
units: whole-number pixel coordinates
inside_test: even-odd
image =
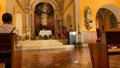
[[[120,54],[120,31],[106,31],[105,38],[106,45],[108,46],[108,54]]]

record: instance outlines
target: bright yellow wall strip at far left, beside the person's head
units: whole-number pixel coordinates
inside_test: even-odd
[[[0,25],[2,24],[2,15],[6,12],[6,0],[0,1]]]

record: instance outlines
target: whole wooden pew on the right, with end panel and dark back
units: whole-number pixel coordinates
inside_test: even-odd
[[[88,44],[93,68],[109,68],[109,55],[120,54],[119,31],[106,31],[101,41]],[[116,45],[118,48],[111,49],[108,45]]]

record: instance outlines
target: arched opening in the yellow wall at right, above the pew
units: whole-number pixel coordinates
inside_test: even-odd
[[[102,33],[105,31],[119,31],[118,15],[119,14],[116,15],[114,11],[110,10],[110,8],[100,8],[98,10],[96,15],[97,39],[100,39]]]

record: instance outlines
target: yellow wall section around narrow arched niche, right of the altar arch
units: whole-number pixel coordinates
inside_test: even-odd
[[[65,6],[64,6],[65,7]],[[67,8],[67,10],[65,11],[64,13],[64,17],[63,17],[63,22],[64,22],[64,25],[66,25],[66,18],[67,18],[67,15],[70,14],[71,15],[71,24],[72,24],[72,29],[75,29],[75,21],[74,21],[74,3],[72,3],[69,8]]]

